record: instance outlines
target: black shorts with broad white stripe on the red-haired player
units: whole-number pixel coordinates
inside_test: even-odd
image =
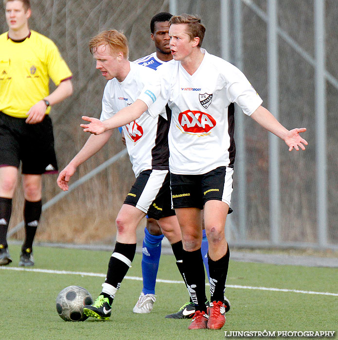
[[[142,171],[124,204],[135,206],[155,220],[175,215],[175,210],[171,208],[169,170]]]

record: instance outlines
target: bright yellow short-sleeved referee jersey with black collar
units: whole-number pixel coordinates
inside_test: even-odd
[[[49,78],[56,86],[71,78],[51,39],[35,31],[22,42],[9,39],[8,32],[0,35],[0,111],[27,118],[28,110],[49,95]]]

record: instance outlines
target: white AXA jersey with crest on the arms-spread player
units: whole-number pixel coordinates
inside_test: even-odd
[[[262,103],[245,75],[227,61],[209,54],[193,75],[172,60],[156,71],[139,99],[156,117],[155,103],[168,102],[172,110],[169,129],[169,167],[176,174],[203,174],[232,166],[234,104],[251,115]]]

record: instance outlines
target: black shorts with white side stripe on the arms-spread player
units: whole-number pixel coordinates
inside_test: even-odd
[[[232,173],[233,169],[228,167],[218,167],[202,175],[171,173],[173,208],[203,209],[210,200],[222,201],[230,206]]]

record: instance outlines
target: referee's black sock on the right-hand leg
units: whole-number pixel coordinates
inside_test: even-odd
[[[41,200],[37,202],[30,202],[25,200],[23,208],[23,217],[25,220],[26,238],[25,242],[22,245],[22,251],[26,250],[27,248],[32,250],[37,225],[41,217],[41,211],[42,211]]]

